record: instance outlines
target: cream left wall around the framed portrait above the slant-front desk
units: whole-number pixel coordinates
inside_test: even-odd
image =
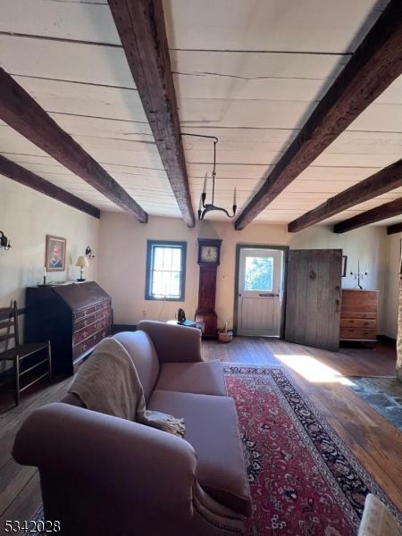
[[[73,264],[79,255],[85,255],[87,246],[96,258],[86,278],[97,279],[99,220],[2,176],[0,230],[13,246],[9,251],[0,249],[0,306],[9,306],[12,299],[24,306],[25,288],[42,281],[46,234],[67,239],[67,270],[52,272],[48,281],[80,277],[80,269]]]

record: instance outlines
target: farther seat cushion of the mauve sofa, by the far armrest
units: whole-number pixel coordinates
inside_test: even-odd
[[[155,389],[226,396],[222,363],[163,363]]]

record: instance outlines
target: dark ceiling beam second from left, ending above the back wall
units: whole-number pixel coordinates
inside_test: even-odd
[[[147,213],[0,67],[0,118],[48,155],[100,191],[105,197],[147,223]]]

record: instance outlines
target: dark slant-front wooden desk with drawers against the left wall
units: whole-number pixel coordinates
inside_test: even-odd
[[[54,371],[74,373],[80,361],[111,333],[111,298],[95,281],[29,287],[25,342],[50,339]]]

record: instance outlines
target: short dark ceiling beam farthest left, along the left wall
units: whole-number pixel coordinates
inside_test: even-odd
[[[20,182],[20,184],[35,189],[41,194],[45,194],[45,196],[52,197],[56,201],[64,203],[64,205],[72,206],[81,212],[94,216],[94,218],[100,218],[100,210],[96,206],[90,205],[80,199],[80,197],[73,196],[70,192],[39,177],[36,173],[29,172],[29,170],[21,167],[18,163],[7,160],[2,155],[0,155],[0,175]]]

